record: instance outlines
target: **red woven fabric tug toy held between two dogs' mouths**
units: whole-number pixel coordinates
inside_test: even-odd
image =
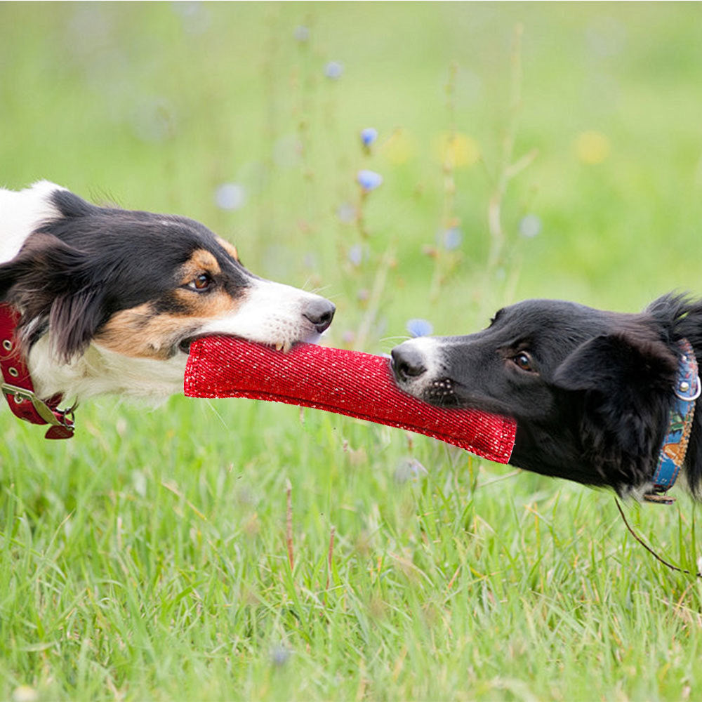
[[[389,359],[298,344],[286,354],[234,338],[208,336],[190,345],[187,397],[248,397],[324,409],[440,439],[508,463],[515,420],[468,409],[441,409],[395,386]]]

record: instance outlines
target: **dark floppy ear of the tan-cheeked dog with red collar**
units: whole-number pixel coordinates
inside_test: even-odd
[[[0,265],[0,301],[21,312],[20,342],[31,346],[48,327],[53,351],[66,362],[86,350],[100,326],[104,290],[87,254],[51,234],[33,234]]]

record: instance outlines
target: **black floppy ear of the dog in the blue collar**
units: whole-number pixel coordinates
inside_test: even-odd
[[[644,457],[659,440],[676,371],[665,343],[637,329],[586,341],[560,364],[553,382],[582,392],[590,423],[583,429],[591,438]]]

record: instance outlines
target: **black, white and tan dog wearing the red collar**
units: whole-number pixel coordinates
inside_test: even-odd
[[[39,397],[159,399],[183,390],[189,340],[277,347],[331,324],[322,297],[256,277],[232,244],[180,216],[98,207],[46,181],[0,190],[0,302]]]

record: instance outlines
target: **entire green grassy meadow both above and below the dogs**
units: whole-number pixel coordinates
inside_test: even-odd
[[[9,2],[0,185],[201,220],[383,353],[702,294],[701,75],[697,3]],[[607,492],[242,399],[0,421],[0,699],[700,698],[702,581]],[[625,513],[696,569],[676,494]]]

